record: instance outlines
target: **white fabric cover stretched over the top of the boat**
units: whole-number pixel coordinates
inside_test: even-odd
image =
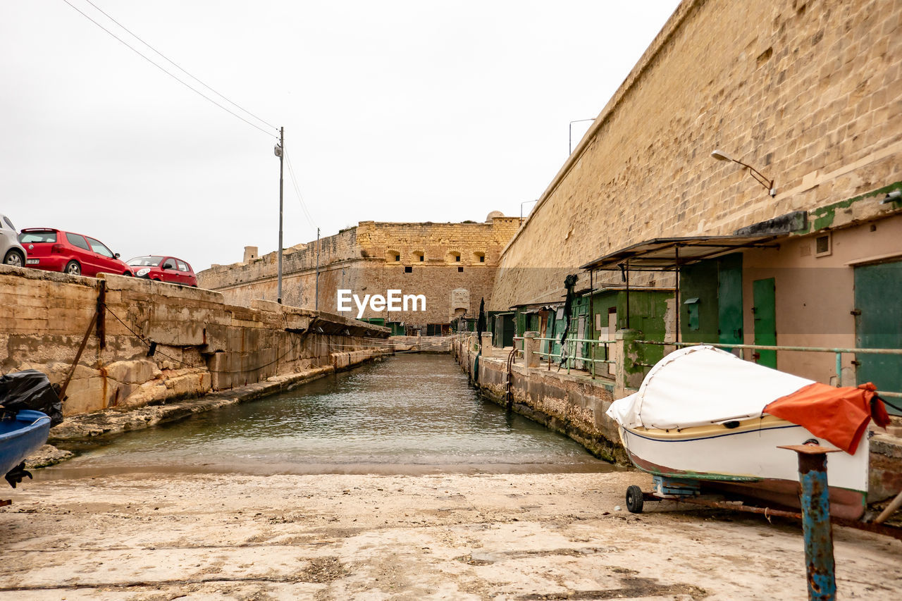
[[[743,361],[718,348],[681,348],[651,368],[639,392],[612,402],[625,428],[691,428],[758,417],[765,405],[814,380]]]

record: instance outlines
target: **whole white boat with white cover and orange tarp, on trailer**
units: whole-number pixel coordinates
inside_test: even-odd
[[[831,513],[857,519],[868,492],[872,411],[878,421],[886,416],[872,386],[833,388],[697,346],[664,357],[607,414],[636,467],[789,507],[799,506],[798,461],[778,447],[814,440],[841,449],[827,456]]]

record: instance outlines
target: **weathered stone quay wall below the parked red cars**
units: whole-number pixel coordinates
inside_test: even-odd
[[[97,326],[88,329],[101,288],[103,345]],[[62,384],[87,334],[66,391],[64,412],[73,415],[334,365],[336,351],[365,351],[351,363],[384,352],[387,328],[266,301],[252,304],[227,305],[218,292],[137,278],[0,265],[0,371],[38,369]]]

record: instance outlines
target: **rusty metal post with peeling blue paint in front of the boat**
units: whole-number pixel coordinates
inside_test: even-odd
[[[789,445],[798,455],[802,533],[805,536],[805,574],[809,601],[835,601],[836,566],[827,489],[827,453],[838,449],[816,444]]]

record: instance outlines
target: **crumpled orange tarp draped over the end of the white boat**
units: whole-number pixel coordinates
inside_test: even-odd
[[[764,412],[798,424],[854,455],[871,419],[881,428],[889,423],[886,407],[874,398],[876,390],[870,382],[857,388],[815,382],[770,402]]]

